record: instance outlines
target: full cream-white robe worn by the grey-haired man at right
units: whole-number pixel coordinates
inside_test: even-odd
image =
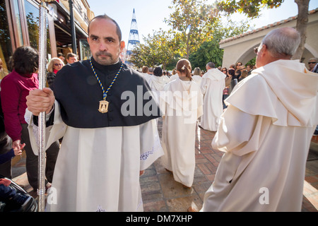
[[[201,211],[300,211],[318,74],[279,60],[238,83],[212,147],[225,152]]]

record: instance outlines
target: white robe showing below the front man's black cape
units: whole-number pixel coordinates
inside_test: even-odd
[[[139,171],[163,155],[155,120],[138,126],[78,129],[66,126],[57,102],[55,107],[46,146],[62,136],[63,142],[46,210],[142,211]],[[25,118],[37,150],[37,126],[30,112]]]

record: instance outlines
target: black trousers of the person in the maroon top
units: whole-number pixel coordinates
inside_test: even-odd
[[[30,186],[37,191],[37,176],[38,176],[38,156],[33,153],[33,149],[30,143],[30,136],[28,131],[28,124],[22,124],[21,143],[25,143],[25,167],[28,175],[28,182]],[[57,155],[59,154],[59,141],[52,143],[52,145],[46,151],[46,164],[45,164],[45,177],[47,182],[52,183],[54,167],[57,162]]]

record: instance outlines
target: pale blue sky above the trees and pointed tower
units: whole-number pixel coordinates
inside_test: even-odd
[[[139,31],[139,41],[143,41],[143,36],[147,37],[152,34],[153,30],[167,30],[168,26],[164,22],[169,17],[171,10],[168,6],[172,6],[172,0],[87,0],[90,9],[95,16],[106,13],[119,24],[122,29],[122,40],[128,44],[129,30],[131,27],[131,18],[135,9],[137,27]],[[209,0],[213,2],[213,0]],[[318,1],[310,1],[310,10],[318,8]],[[269,23],[275,23],[280,20],[296,16],[298,7],[294,0],[285,0],[279,8],[265,9],[262,16],[252,20],[251,24],[255,28],[261,28]],[[242,20],[245,18],[242,14],[235,15],[233,18]]]

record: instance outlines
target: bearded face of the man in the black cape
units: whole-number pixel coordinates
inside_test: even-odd
[[[102,65],[114,64],[124,48],[124,42],[119,42],[116,25],[112,20],[98,18],[90,23],[88,44],[95,61]]]

